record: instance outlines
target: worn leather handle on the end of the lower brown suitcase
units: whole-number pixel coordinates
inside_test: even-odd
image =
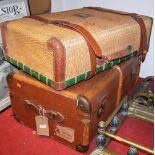
[[[29,100],[24,100],[24,103],[26,107],[28,107],[29,109],[33,109],[39,115],[46,116],[47,118],[55,120],[58,123],[61,123],[64,120],[64,116],[60,112],[45,110],[45,108],[43,108],[41,105],[35,105]]]

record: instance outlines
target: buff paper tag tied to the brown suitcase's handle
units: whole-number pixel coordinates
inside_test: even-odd
[[[41,114],[42,112],[42,114]],[[49,136],[48,118],[45,116],[45,109],[40,106],[39,115],[35,117],[37,134]]]

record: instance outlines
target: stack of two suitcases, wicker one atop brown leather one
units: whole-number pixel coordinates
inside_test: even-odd
[[[150,17],[93,7],[4,23],[5,58],[21,69],[8,76],[15,118],[86,151],[137,83],[151,26]]]

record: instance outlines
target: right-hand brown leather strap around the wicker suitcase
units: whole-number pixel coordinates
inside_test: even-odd
[[[140,26],[141,30],[141,42],[140,42],[140,48],[139,48],[139,55],[143,55],[143,61],[145,60],[145,56],[147,53],[147,33],[146,33],[146,26],[143,21],[143,19],[136,13],[127,13],[127,12],[122,12],[122,11],[116,11],[116,10],[111,10],[111,9],[105,9],[105,8],[100,8],[100,7],[86,7],[88,9],[94,9],[98,11],[103,11],[103,12],[109,12],[109,13],[115,13],[115,14],[120,14],[120,15],[126,15],[126,16],[131,16]]]

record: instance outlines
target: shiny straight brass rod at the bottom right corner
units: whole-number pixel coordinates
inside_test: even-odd
[[[115,139],[115,140],[117,140],[119,142],[123,142],[125,144],[130,145],[130,146],[134,146],[134,147],[136,147],[136,148],[138,148],[140,150],[143,150],[143,151],[145,151],[147,153],[154,154],[154,151],[152,149],[150,149],[150,148],[147,148],[147,147],[144,147],[142,145],[139,145],[139,144],[136,144],[134,142],[131,142],[129,140],[123,139],[123,138],[121,138],[119,136],[116,136],[114,134],[111,134],[109,132],[105,132],[105,135],[108,136],[108,137],[110,137],[110,138],[112,138],[112,139]]]

